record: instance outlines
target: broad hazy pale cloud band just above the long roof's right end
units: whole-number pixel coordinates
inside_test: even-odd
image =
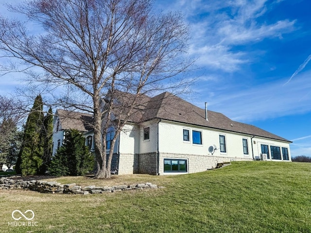
[[[226,87],[213,90],[215,95],[209,99],[209,106],[244,122],[307,113],[311,111],[310,77],[311,70],[297,75],[287,86],[282,85],[284,80],[278,80],[249,89],[241,84],[227,90]]]

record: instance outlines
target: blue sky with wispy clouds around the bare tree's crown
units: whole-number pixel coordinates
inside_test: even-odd
[[[155,7],[183,12],[191,26],[190,56],[201,68],[190,102],[293,141],[292,156],[311,156],[310,0],[157,0]],[[0,77],[0,95],[18,77]]]

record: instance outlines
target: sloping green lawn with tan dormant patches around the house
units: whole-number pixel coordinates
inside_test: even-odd
[[[0,190],[0,232],[311,232],[310,163],[234,162],[189,175],[70,179],[166,188],[85,196]],[[33,210],[38,226],[8,226],[16,209]]]

